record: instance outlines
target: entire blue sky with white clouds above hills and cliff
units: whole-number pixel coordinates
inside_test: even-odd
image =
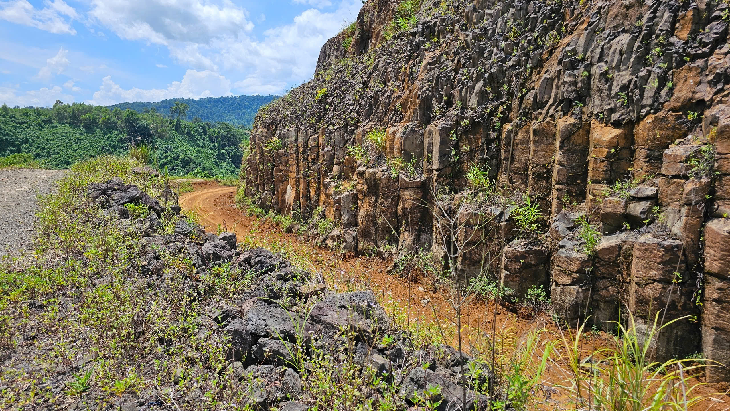
[[[0,0],[0,104],[282,94],[361,0]]]

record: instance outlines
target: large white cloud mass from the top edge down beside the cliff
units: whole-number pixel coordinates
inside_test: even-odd
[[[173,61],[202,72],[223,72],[238,80],[242,93],[283,93],[307,80],[320,47],[353,20],[361,0],[342,0],[337,9],[310,8],[293,22],[250,34],[253,23],[242,7],[215,0],[91,0],[89,15],[123,39],[164,45]],[[330,0],[293,0],[313,7]]]

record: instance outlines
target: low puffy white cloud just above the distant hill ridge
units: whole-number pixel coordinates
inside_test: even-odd
[[[188,70],[181,81],[172,82],[167,88],[130,88],[125,90],[112,81],[111,76],[101,80],[99,91],[93,93],[91,104],[110,105],[123,101],[160,101],[164,99],[231,96],[231,81],[222,75],[205,70]]]

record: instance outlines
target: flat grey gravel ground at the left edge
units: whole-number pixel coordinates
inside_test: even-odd
[[[38,193],[47,194],[66,170],[0,170],[0,256],[33,249]]]

